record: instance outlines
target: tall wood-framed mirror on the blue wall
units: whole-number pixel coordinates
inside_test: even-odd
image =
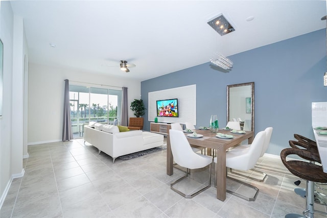
[[[227,85],[227,122],[235,119],[254,131],[254,82]]]

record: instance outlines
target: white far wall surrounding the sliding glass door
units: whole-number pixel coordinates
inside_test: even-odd
[[[134,99],[141,98],[141,82],[139,81],[29,63],[29,145],[62,140],[64,79],[68,79],[69,84],[83,84],[84,82],[87,86],[99,88],[101,85],[95,84],[128,87],[129,105]],[[79,83],[74,81],[79,81]],[[128,116],[133,117],[131,110]]]

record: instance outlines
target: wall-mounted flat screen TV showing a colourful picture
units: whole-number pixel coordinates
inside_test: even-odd
[[[157,100],[157,117],[178,117],[177,98]]]

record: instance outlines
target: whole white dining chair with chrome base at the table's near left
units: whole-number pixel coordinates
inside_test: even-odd
[[[184,198],[193,198],[197,194],[201,193],[202,191],[208,189],[211,186],[211,163],[213,158],[208,157],[205,155],[200,155],[194,152],[190,146],[188,139],[183,132],[175,129],[169,130],[169,137],[170,137],[170,146],[173,154],[174,161],[181,167],[186,168],[186,173],[184,176],[177,179],[175,182],[170,184],[170,188],[177,192],[178,194],[182,195]],[[185,194],[182,191],[174,188],[174,185],[181,180],[188,177],[188,171],[191,169],[200,169],[209,165],[209,179],[208,185],[203,187],[202,189],[190,194]]]

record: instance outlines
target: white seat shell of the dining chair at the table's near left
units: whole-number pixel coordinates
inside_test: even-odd
[[[196,154],[196,152],[192,150],[183,132],[169,129],[169,138],[174,161],[179,166],[188,169],[196,169],[208,165],[207,158],[203,158],[203,155]]]

